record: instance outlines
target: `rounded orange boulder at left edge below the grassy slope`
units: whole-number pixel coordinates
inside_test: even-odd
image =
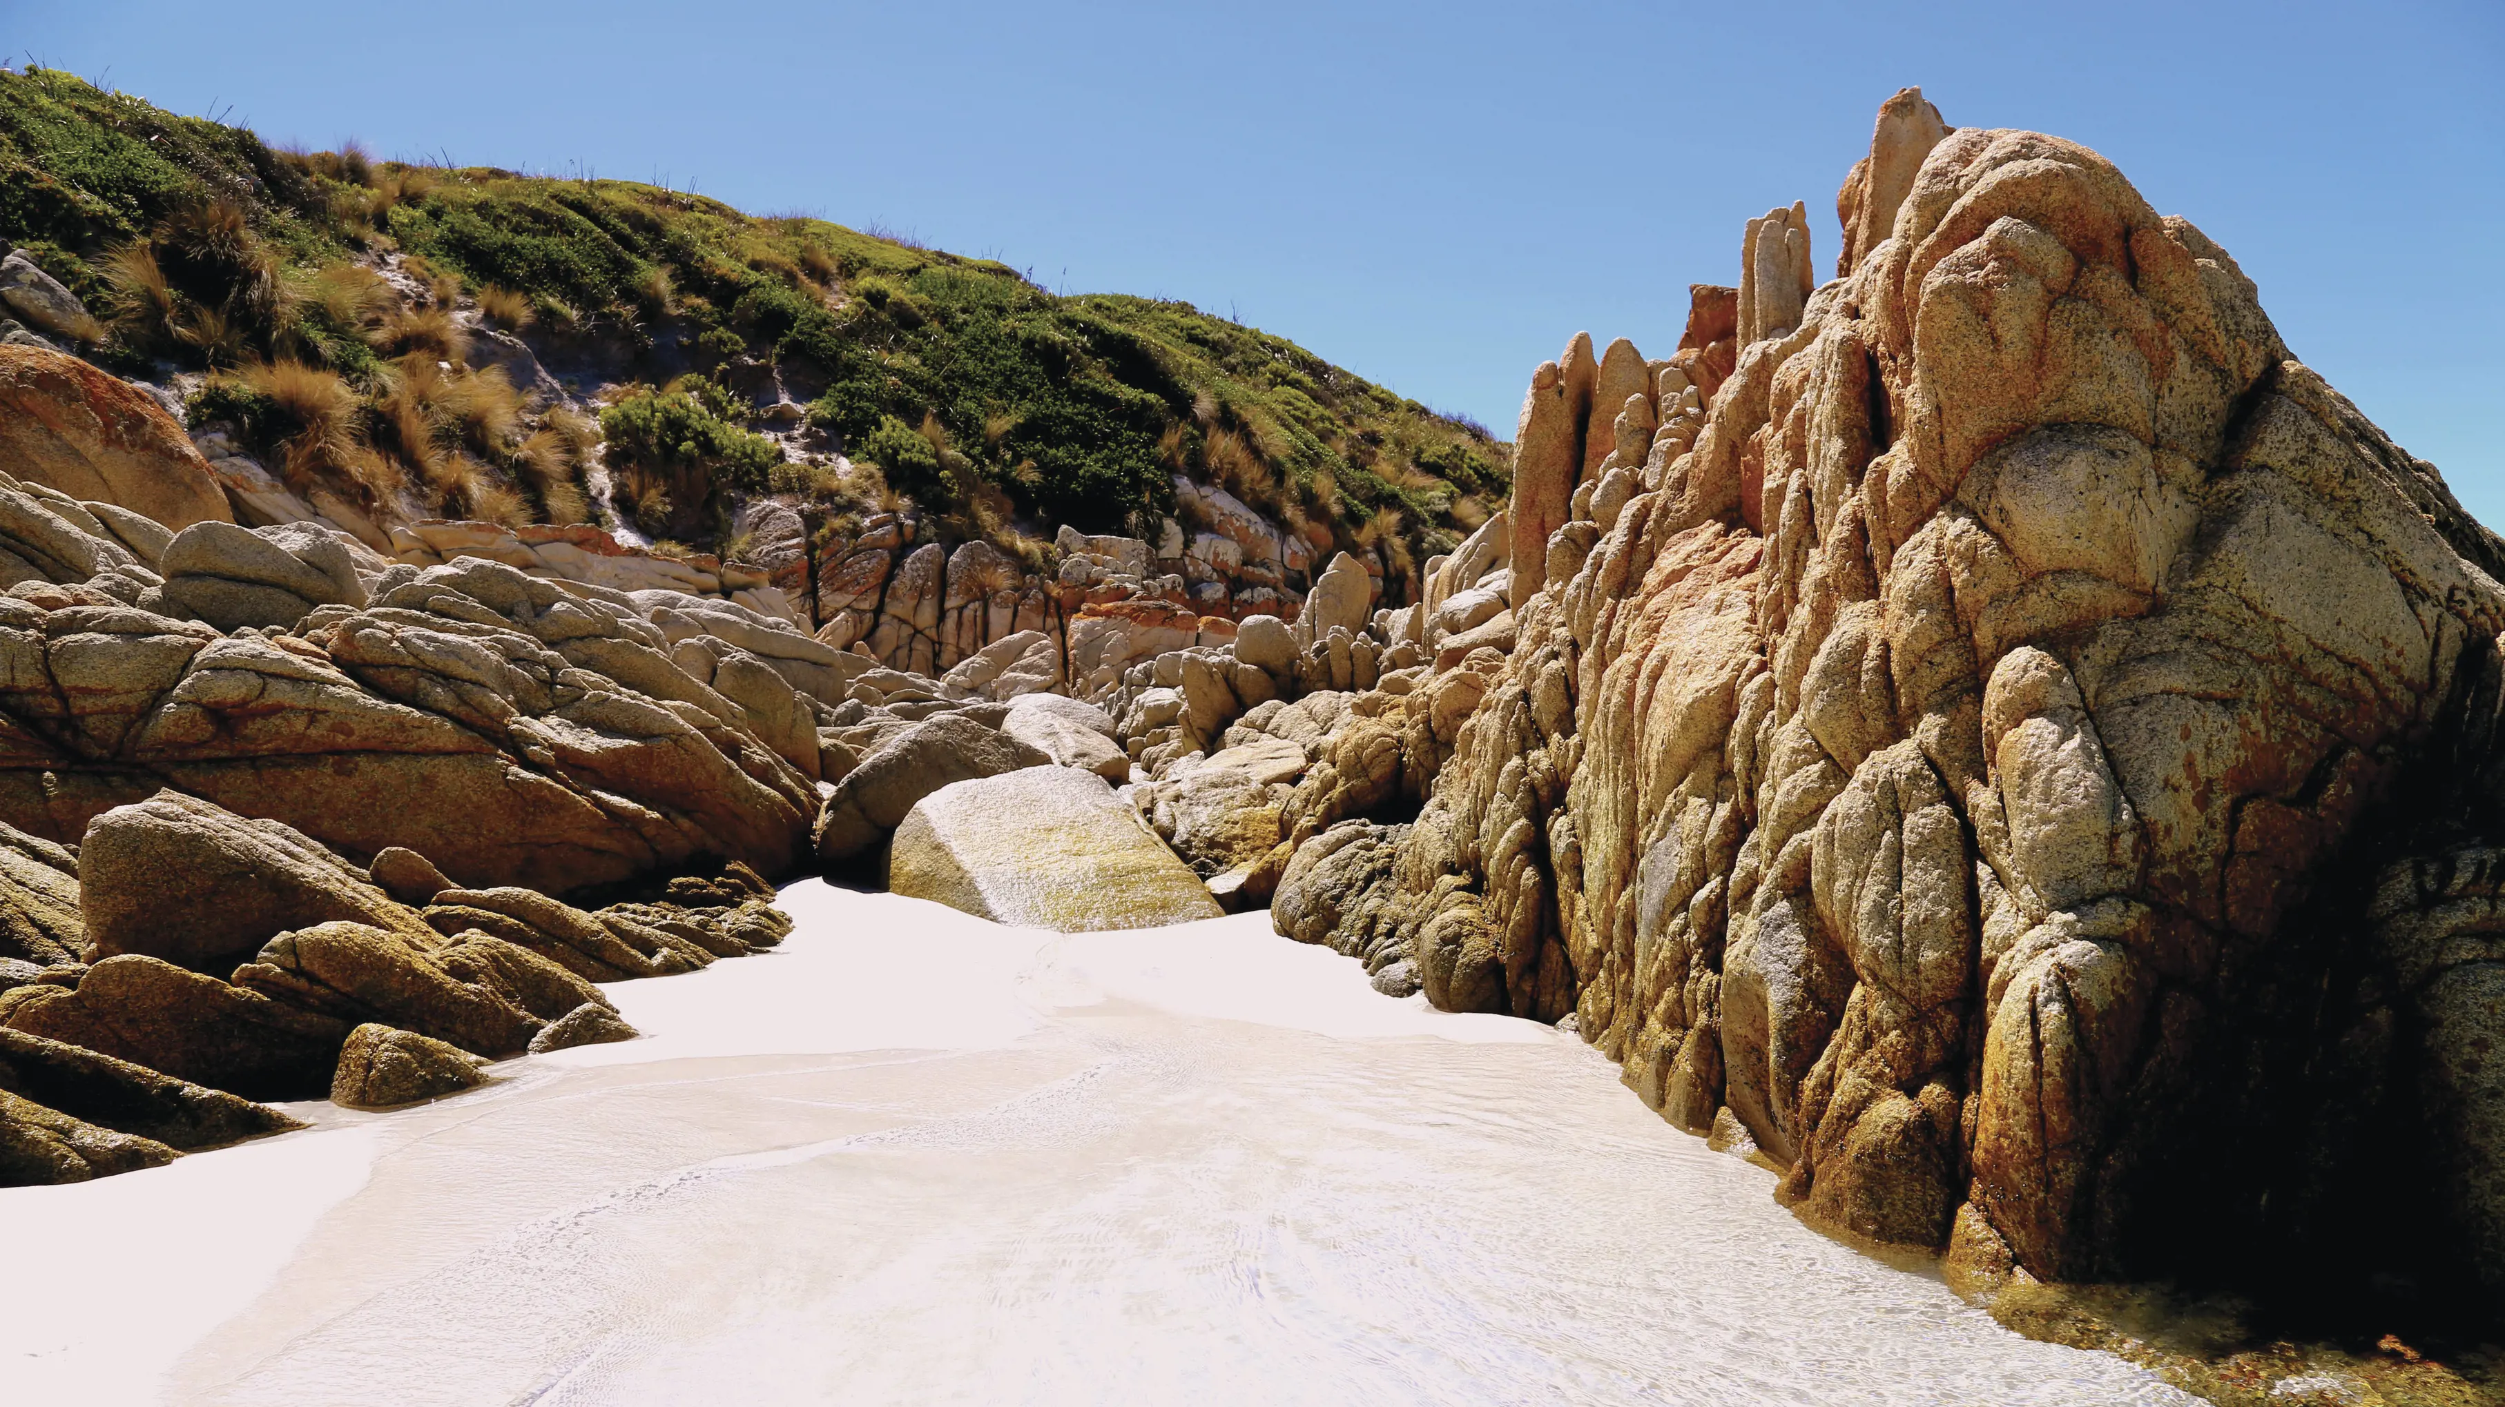
[[[68,353],[0,345],[0,468],[175,531],[233,521],[183,426]]]

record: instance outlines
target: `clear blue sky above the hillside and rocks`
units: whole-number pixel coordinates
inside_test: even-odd
[[[1513,433],[1678,338],[1879,103],[2082,140],[2505,526],[2505,5],[0,0],[0,48],[271,140],[666,178],[1185,298]]]

